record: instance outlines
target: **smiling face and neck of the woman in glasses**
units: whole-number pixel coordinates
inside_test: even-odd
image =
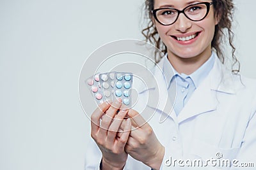
[[[157,21],[163,21],[163,17],[161,17],[163,14],[156,15],[156,11],[161,11],[167,2],[155,1],[153,13]],[[188,59],[197,60],[193,67],[189,65],[188,71],[184,71],[186,74],[191,74],[211,56],[211,41],[214,36],[214,27],[218,24],[218,17],[214,15],[214,8],[210,4],[210,2],[196,3],[193,4],[192,8],[190,5],[175,5],[184,11],[182,12],[184,15],[178,15],[180,14],[179,10],[171,8],[174,9],[173,11],[177,11],[175,20],[171,20],[172,23],[168,25],[163,25],[163,22],[154,23],[161,41],[166,45],[168,56],[170,56],[168,59],[178,72],[184,69]],[[200,9],[197,11],[199,13],[198,18],[191,14],[193,9]],[[166,16],[165,13],[164,16]],[[188,22],[188,18],[189,20],[193,19],[194,22]]]

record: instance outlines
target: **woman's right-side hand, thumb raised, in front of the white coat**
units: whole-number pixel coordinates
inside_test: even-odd
[[[134,130],[131,131],[125,145],[125,152],[152,169],[159,169],[164,157],[164,146],[156,138],[152,127],[137,111],[129,110],[127,115],[131,117]]]

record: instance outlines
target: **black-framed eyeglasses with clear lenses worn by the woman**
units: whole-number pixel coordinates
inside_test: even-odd
[[[210,6],[213,2],[203,2],[191,4],[183,10],[177,10],[175,8],[158,8],[153,10],[154,18],[162,25],[172,25],[178,19],[180,13],[183,13],[189,20],[200,21],[204,20],[210,10]]]

